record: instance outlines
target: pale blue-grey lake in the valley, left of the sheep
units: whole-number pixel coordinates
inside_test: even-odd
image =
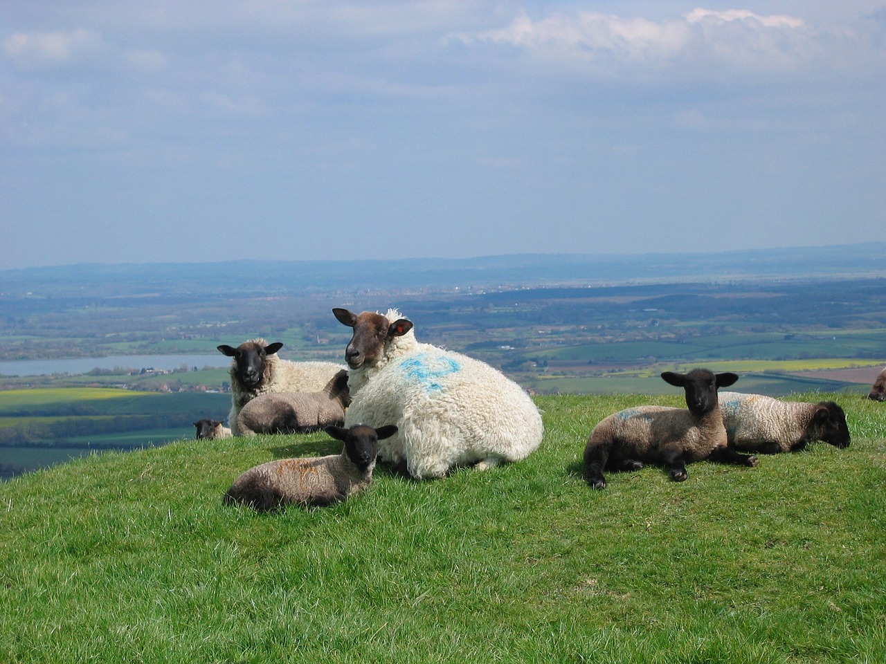
[[[0,362],[0,375],[88,374],[92,369],[166,369],[171,371],[187,365],[197,367],[229,367],[230,358],[220,352],[214,355],[112,355],[107,358],[23,359]]]

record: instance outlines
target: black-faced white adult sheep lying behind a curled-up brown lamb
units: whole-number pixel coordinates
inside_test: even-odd
[[[283,344],[268,344],[262,338],[250,339],[233,348],[222,344],[221,354],[233,358],[230,363],[230,413],[228,425],[234,436],[237,414],[253,398],[266,392],[315,392],[323,390],[333,375],[346,367],[335,362],[291,362],[277,357]]]

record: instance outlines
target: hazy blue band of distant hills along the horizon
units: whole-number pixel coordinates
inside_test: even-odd
[[[886,242],[650,254],[516,254],[471,259],[234,260],[120,263],[0,271],[0,295],[50,287],[54,295],[228,290],[452,289],[638,282],[878,276]]]

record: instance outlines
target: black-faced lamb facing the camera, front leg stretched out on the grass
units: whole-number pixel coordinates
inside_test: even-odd
[[[683,408],[641,405],[613,413],[600,421],[585,446],[585,479],[605,489],[603,468],[639,470],[644,463],[668,467],[672,480],[688,478],[686,464],[701,459],[756,466],[757,457],[727,446],[717,390],[738,380],[736,374],[712,374],[693,369],[688,374],[665,371],[665,382],[686,391]]]

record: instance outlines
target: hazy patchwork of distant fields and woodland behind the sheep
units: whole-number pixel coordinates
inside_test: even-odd
[[[815,250],[750,256],[756,275],[739,274],[749,257],[731,255],[691,266],[667,257],[402,261],[385,263],[383,276],[323,263],[0,272],[0,374],[22,360],[118,363],[0,375],[0,473],[192,437],[193,421],[228,413],[218,344],[262,336],[284,343],[284,359],[342,361],[350,330],[333,306],[399,308],[420,341],[483,359],[538,395],[672,393],[661,371],[704,366],[741,374],[742,391],[861,397],[886,365],[877,249],[842,251],[842,264],[833,251],[829,260]],[[816,265],[828,274],[804,272]],[[127,362],[170,355],[189,361],[163,370]]]

